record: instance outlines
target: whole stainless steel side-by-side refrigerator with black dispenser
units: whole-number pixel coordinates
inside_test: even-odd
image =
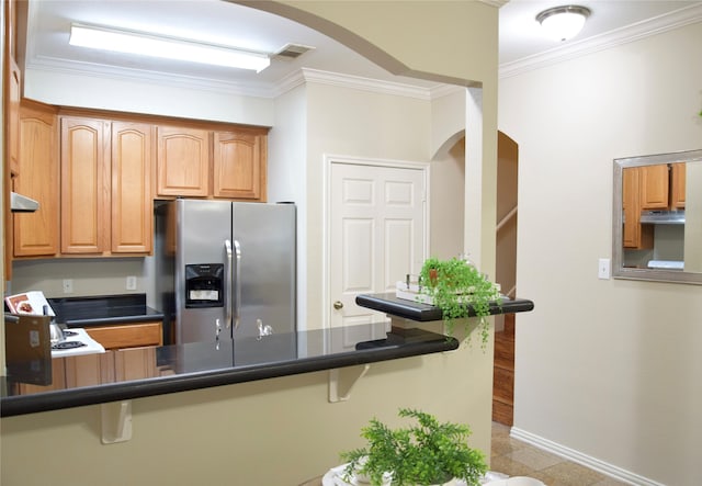
[[[296,329],[294,204],[162,202],[155,248],[170,343],[236,342]]]

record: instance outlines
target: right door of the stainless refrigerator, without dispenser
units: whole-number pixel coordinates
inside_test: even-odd
[[[296,329],[296,213],[293,204],[233,204],[237,337]],[[235,342],[236,347],[236,342]]]

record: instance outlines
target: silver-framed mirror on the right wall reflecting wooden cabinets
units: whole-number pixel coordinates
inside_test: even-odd
[[[702,149],[614,159],[612,274],[702,284]]]

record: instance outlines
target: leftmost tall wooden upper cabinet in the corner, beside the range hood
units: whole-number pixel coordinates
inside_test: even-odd
[[[23,103],[20,109],[20,167],[14,190],[39,203],[34,213],[13,214],[15,257],[54,256],[59,241],[59,167],[54,108]]]

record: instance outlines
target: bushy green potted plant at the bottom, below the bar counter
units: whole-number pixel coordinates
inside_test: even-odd
[[[374,486],[444,485],[455,479],[480,484],[487,464],[483,452],[467,444],[468,426],[440,423],[432,415],[409,408],[400,408],[398,415],[417,422],[390,429],[373,418],[361,431],[367,445],[341,453],[348,461],[344,481],[364,475]]]

